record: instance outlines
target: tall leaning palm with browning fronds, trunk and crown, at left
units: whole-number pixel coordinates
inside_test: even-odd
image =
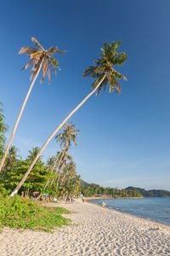
[[[32,80],[30,89],[27,92],[25,101],[22,104],[22,107],[20,108],[20,113],[19,113],[19,116],[18,116],[18,118],[16,120],[16,123],[14,125],[14,130],[11,133],[11,137],[9,139],[8,146],[5,150],[5,153],[3,154],[3,160],[1,161],[1,164],[0,164],[0,172],[3,168],[3,163],[6,159],[7,154],[8,154],[8,149],[10,148],[10,145],[13,141],[14,134],[15,134],[15,131],[17,129],[17,126],[19,125],[20,117],[21,117],[21,115],[24,111],[24,108],[26,106],[26,102],[28,100],[28,97],[30,96],[32,87],[33,87],[33,85],[34,85],[34,83],[37,79],[38,74],[40,73],[40,70],[42,69],[41,83],[42,83],[43,79],[45,78],[46,74],[48,74],[48,80],[49,80],[49,83],[50,83],[51,79],[50,79],[50,69],[49,69],[49,67],[52,67],[52,70],[55,74],[56,74],[55,68],[59,68],[58,61],[56,61],[54,59],[53,55],[56,54],[56,53],[62,54],[62,53],[65,52],[64,50],[59,50],[57,46],[53,46],[53,47],[50,47],[48,50],[45,50],[45,49],[43,49],[42,45],[39,44],[39,42],[37,41],[36,38],[31,38],[31,40],[34,42],[34,44],[36,44],[36,47],[30,47],[30,46],[22,47],[20,49],[19,54],[26,54],[26,55],[29,56],[30,61],[28,62],[28,64],[26,64],[25,67],[22,68],[22,70],[26,69],[27,67],[29,67],[32,64],[33,67],[31,68],[31,71],[32,71],[31,79],[32,78],[34,78],[34,79]]]

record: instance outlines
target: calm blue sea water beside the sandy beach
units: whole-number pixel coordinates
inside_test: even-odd
[[[170,225],[170,197],[149,197],[139,199],[99,199],[94,204],[106,203],[106,207]]]

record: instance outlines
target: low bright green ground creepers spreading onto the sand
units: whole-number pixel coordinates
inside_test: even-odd
[[[11,199],[0,195],[0,227],[52,231],[69,224],[63,213],[70,212],[61,207],[42,207],[19,195]]]

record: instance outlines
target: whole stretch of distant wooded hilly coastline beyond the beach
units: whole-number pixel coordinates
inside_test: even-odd
[[[81,193],[86,197],[107,198],[141,198],[141,197],[170,197],[170,192],[162,189],[145,190],[135,187],[117,189],[103,187],[95,183],[86,183],[81,180]]]

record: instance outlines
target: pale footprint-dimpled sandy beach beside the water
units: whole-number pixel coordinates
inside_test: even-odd
[[[76,212],[66,215],[75,225],[54,234],[5,228],[0,255],[170,255],[170,227],[86,202],[59,206]]]

